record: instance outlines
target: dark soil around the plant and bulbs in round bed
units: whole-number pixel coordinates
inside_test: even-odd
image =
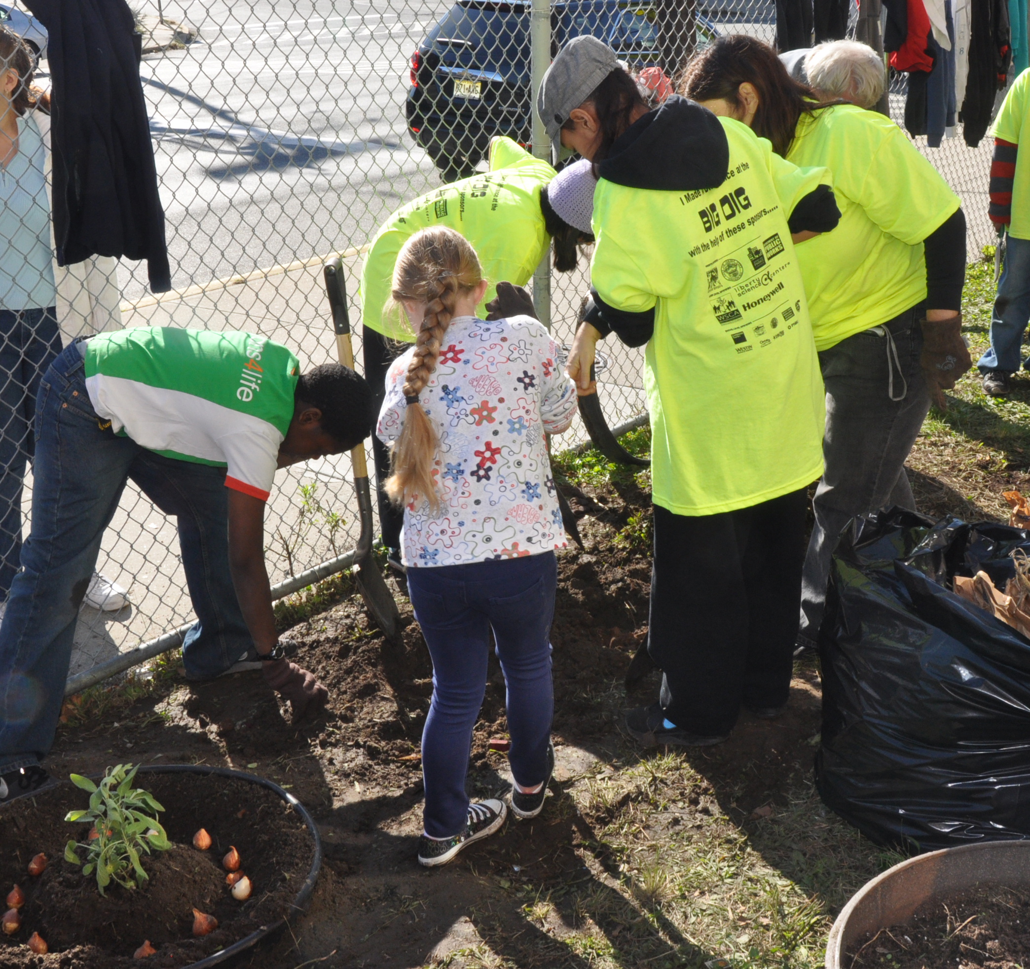
[[[112,885],[102,897],[94,877],[63,858],[69,838],[84,828],[64,821],[89,795],[64,785],[31,800],[15,801],[0,815],[0,886],[18,884],[26,895],[21,930],[0,940],[5,969],[54,965],[62,969],[118,969],[144,939],[158,949],[147,965],[186,966],[231,945],[262,925],[281,919],[311,866],[313,845],[300,818],[272,792],[213,775],[142,772],[137,785],[166,808],[162,824],[173,846],[143,859],[149,879],[140,889]],[[242,817],[241,817],[242,812]],[[192,845],[198,828],[212,838],[210,851]],[[237,902],[226,885],[221,858],[230,844],[240,853],[253,885]],[[49,859],[38,877],[26,871],[38,852]],[[218,929],[192,936],[193,909],[214,915]],[[25,946],[38,932],[49,947],[44,962]]]

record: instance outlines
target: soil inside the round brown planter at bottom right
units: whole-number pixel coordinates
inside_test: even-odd
[[[1008,889],[945,899],[855,945],[846,969],[1023,969],[1030,957],[1030,900]]]

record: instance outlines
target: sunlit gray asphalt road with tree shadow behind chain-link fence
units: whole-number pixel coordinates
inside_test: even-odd
[[[163,6],[199,31],[140,71],[175,288],[360,245],[438,182],[404,98],[408,58],[448,2]],[[125,295],[144,291],[136,267]]]

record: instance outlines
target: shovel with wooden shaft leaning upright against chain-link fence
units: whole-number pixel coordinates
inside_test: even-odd
[[[354,351],[350,346],[347,291],[339,256],[325,264],[324,276],[325,291],[329,293],[329,305],[333,312],[333,330],[336,332],[336,352],[340,362],[353,370]],[[369,469],[365,463],[364,441],[350,452],[350,462],[354,469],[354,491],[357,492],[357,511],[362,521],[362,533],[354,549],[354,563],[351,569],[366,608],[386,638],[397,644],[401,637],[401,616],[397,611],[393,596],[386,588],[386,581],[372,557],[372,492],[369,488]]]

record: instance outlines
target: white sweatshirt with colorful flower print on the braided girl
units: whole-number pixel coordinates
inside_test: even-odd
[[[451,320],[419,404],[440,442],[434,475],[440,510],[416,495],[404,511],[404,563],[459,565],[539,555],[565,547],[545,434],[561,434],[576,416],[576,385],[557,344],[538,320]],[[401,434],[404,381],[414,348],[386,375],[376,432]],[[414,406],[414,405],[412,405]]]

